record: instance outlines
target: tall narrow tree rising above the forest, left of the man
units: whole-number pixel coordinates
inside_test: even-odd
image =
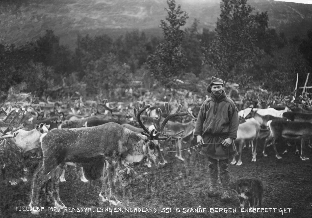
[[[169,8],[165,10],[168,12],[168,23],[160,21],[165,42],[158,44],[155,54],[148,57],[148,65],[152,76],[161,84],[170,87],[176,78],[184,74],[186,67],[187,59],[181,46],[185,31],[180,27],[186,24],[188,14],[181,10],[181,5],[175,9],[174,0],[167,0],[167,4]]]

